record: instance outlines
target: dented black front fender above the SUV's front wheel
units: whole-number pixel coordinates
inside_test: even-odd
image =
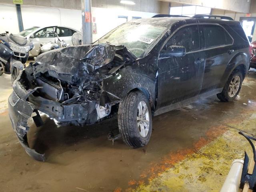
[[[100,104],[105,106],[106,103],[120,102],[128,92],[139,89],[144,94],[148,94],[146,96],[148,96],[152,105],[155,100],[155,88],[156,78],[152,79],[143,73],[138,73],[138,68],[135,69],[133,66],[127,66],[115,75],[103,79]]]

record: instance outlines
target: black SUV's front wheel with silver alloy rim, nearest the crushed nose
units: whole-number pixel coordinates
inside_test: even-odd
[[[148,144],[152,132],[152,114],[146,96],[130,92],[119,104],[118,128],[122,140],[130,147]]]

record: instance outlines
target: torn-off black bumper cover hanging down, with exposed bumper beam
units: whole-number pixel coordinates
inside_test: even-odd
[[[75,125],[82,124],[82,122],[89,124],[90,116],[97,118],[94,102],[90,102],[84,106],[81,104],[62,105],[40,96],[35,97],[32,93],[28,96],[28,99],[24,99],[22,98],[24,91],[25,90],[16,83],[12,94],[8,98],[9,116],[12,122],[12,128],[18,136],[20,144],[25,148],[28,155],[35,160],[45,161],[46,158],[44,154],[40,154],[31,149],[28,144],[27,132],[29,126],[27,123],[33,112],[36,113],[36,116],[32,117],[36,126],[41,126],[43,124],[38,111],[47,114],[50,118],[54,118],[58,122]],[[16,92],[19,92],[21,97],[16,94]]]

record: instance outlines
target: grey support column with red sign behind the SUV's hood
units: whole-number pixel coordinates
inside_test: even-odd
[[[92,2],[81,0],[82,3],[82,37],[83,44],[92,43]]]

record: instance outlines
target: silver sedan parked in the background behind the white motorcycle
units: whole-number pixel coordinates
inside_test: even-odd
[[[72,35],[79,31],[65,26],[49,26],[40,28],[32,27],[20,32],[19,34],[21,36],[28,38],[34,44],[34,48],[30,51],[30,56],[38,55],[41,43],[55,41],[55,35],[47,32],[56,32],[61,41],[64,40],[66,44],[73,45]]]

